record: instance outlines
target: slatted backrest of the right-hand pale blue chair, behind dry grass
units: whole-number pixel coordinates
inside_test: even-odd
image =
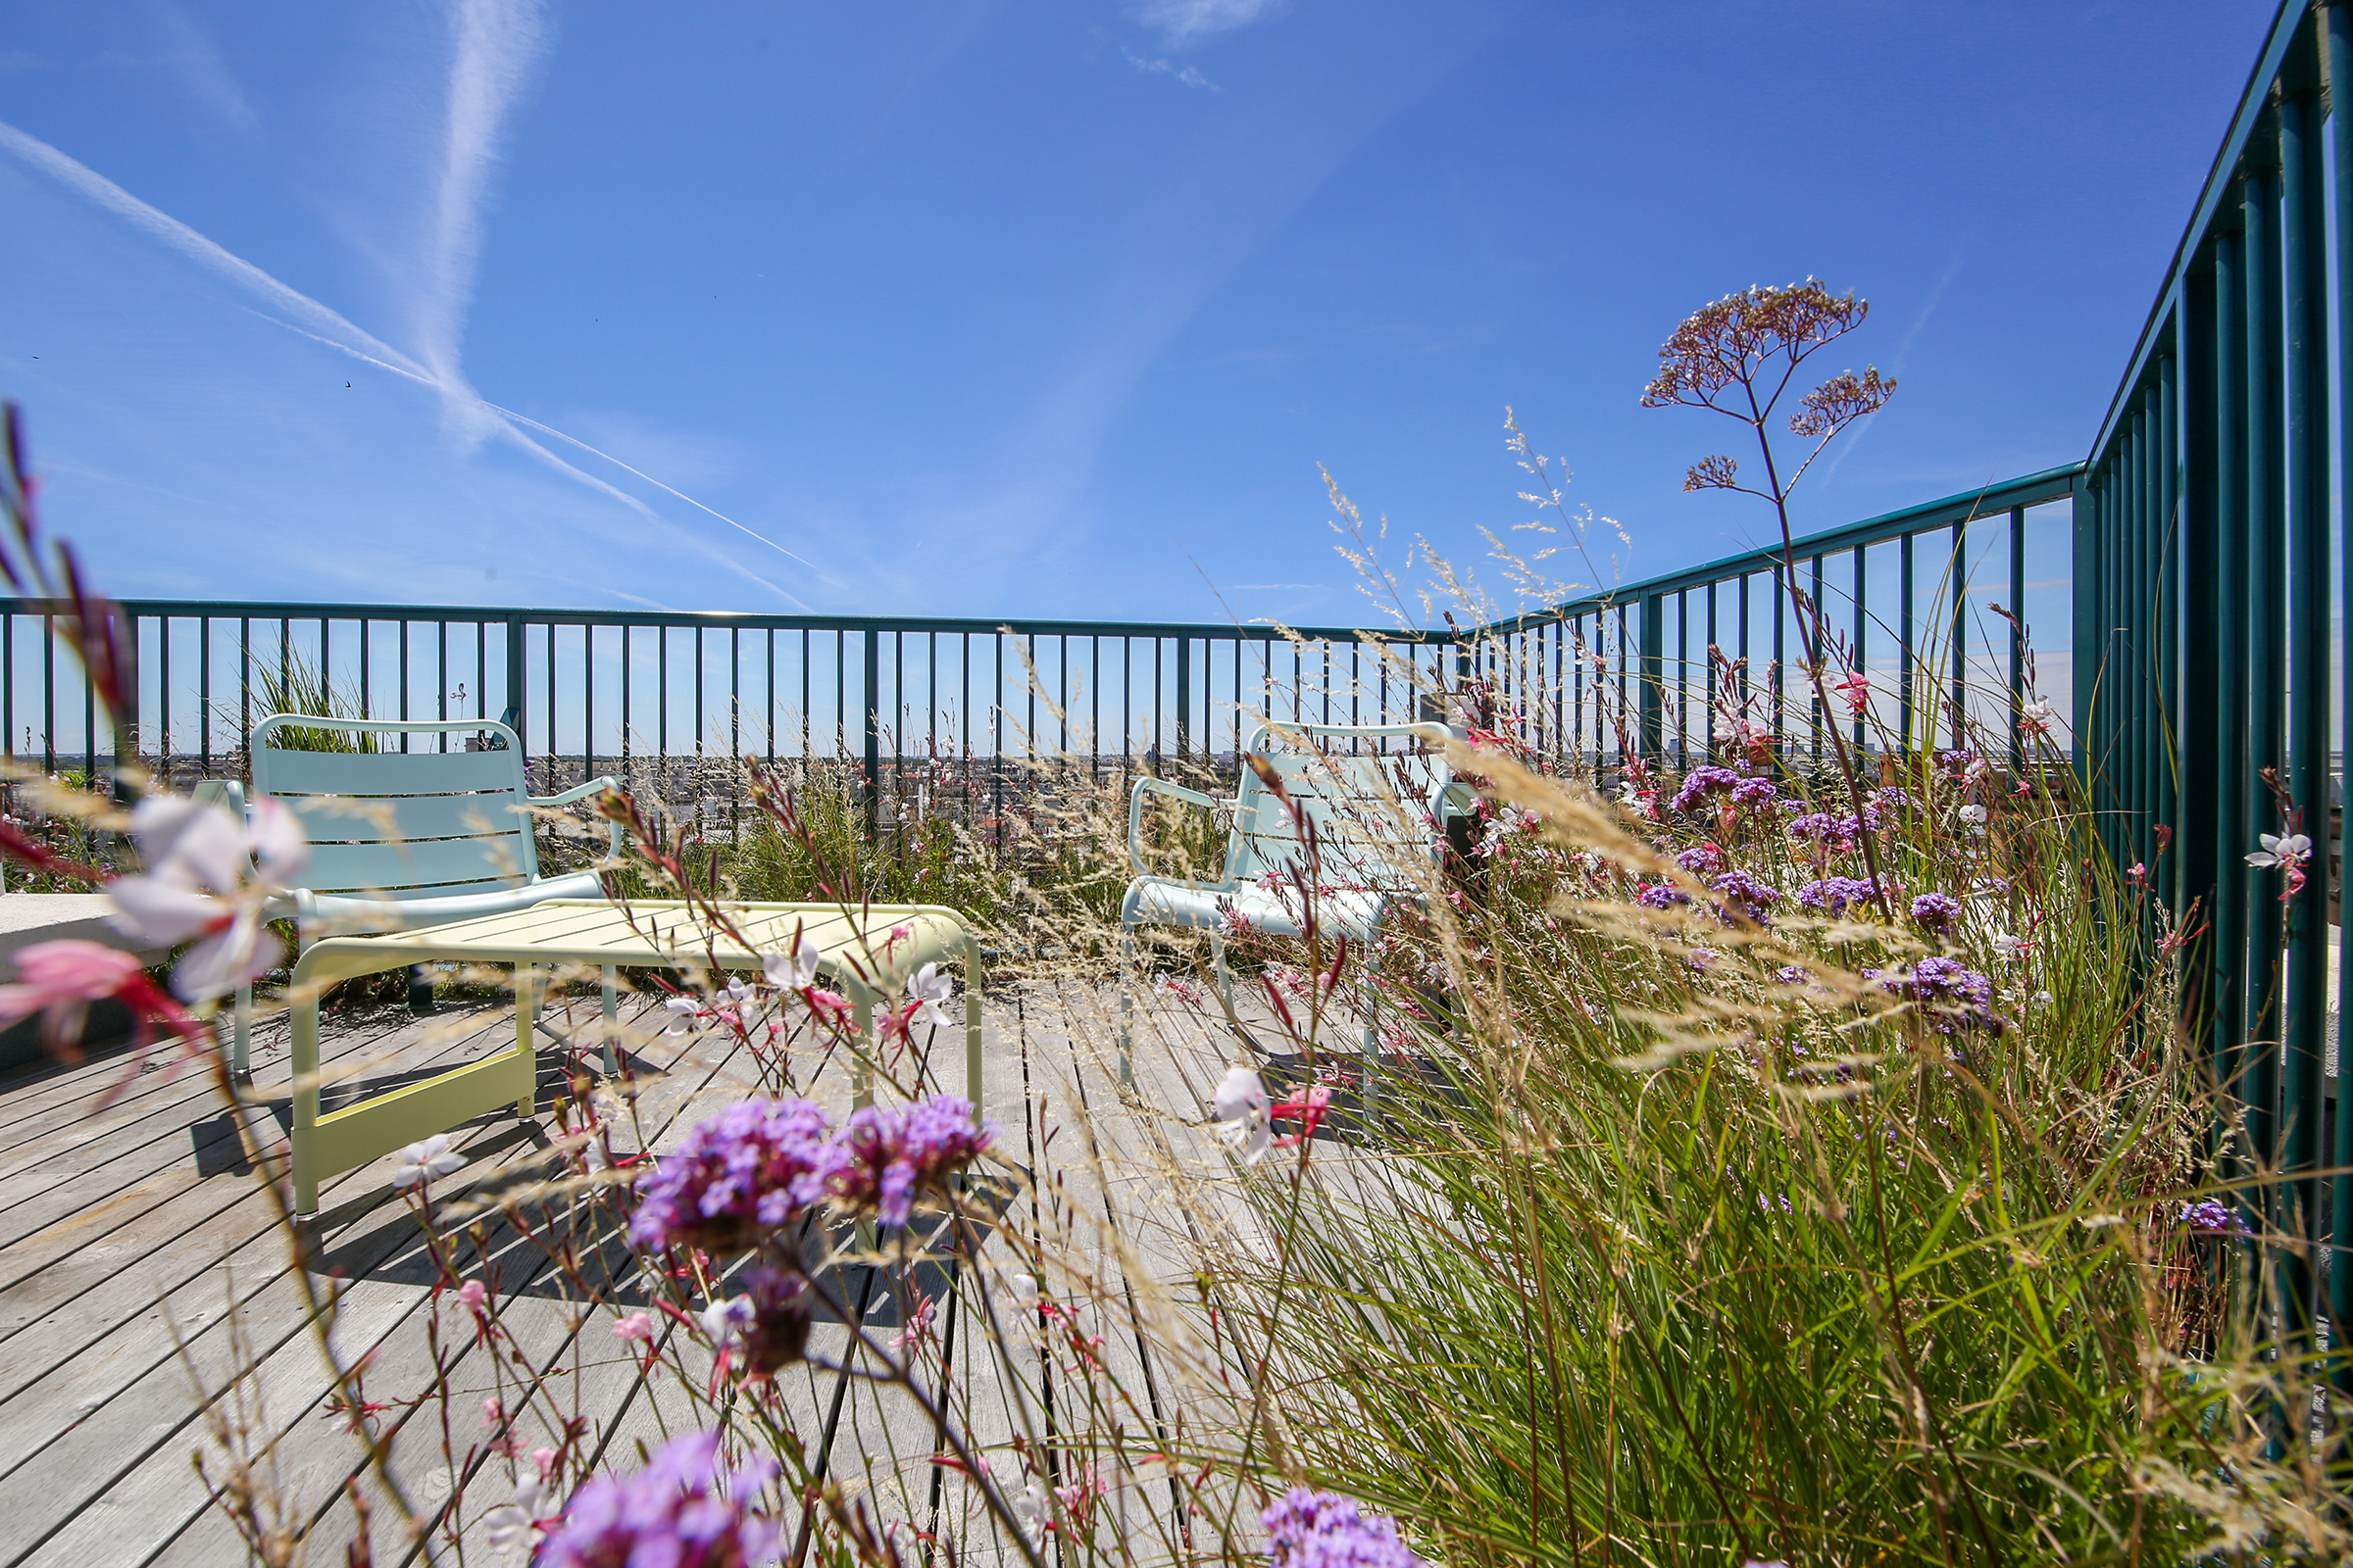
[[[1433,820],[1449,783],[1445,755],[1421,750],[1275,750],[1268,745],[1271,733],[1261,724],[1242,750],[1264,757],[1282,780],[1285,795],[1315,823],[1322,886],[1381,893],[1419,891],[1407,863],[1426,860],[1433,853]],[[1318,726],[1308,733],[1313,738],[1379,743],[1409,731],[1405,726],[1360,731]],[[1292,813],[1266,788],[1259,771],[1245,762],[1226,877],[1261,882],[1271,875],[1297,877],[1304,870],[1306,846],[1299,842]]]

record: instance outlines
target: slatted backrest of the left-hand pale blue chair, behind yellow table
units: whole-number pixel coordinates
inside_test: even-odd
[[[386,750],[289,750],[273,745],[280,731],[374,736]],[[409,736],[412,750],[398,750],[400,736]],[[426,743],[414,745],[416,736]],[[440,736],[461,748],[473,741],[480,750],[438,750]],[[409,900],[539,879],[522,743],[494,719],[280,712],[254,726],[252,766],[254,792],[275,797],[311,835],[301,886],[315,893]]]

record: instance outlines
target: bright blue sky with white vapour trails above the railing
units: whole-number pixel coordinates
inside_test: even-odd
[[[1802,527],[2082,456],[2271,12],[19,0],[0,393],[120,595],[1367,621],[1506,404],[1631,578],[1748,282],[1901,378]]]

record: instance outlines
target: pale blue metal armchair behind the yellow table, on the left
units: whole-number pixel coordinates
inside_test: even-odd
[[[322,752],[282,748],[280,731],[313,729],[365,736],[449,736],[464,750]],[[471,745],[468,745],[471,743]],[[379,741],[381,745],[381,741]],[[398,745],[398,743],[395,743]],[[562,795],[529,795],[522,741],[496,719],[341,719],[280,712],[254,726],[254,795],[294,811],[311,837],[301,886],[273,907],[294,919],[299,945],[322,936],[409,931],[454,919],[504,914],[551,898],[602,898],[598,872],[539,875],[532,835],[534,806],[567,806],[616,790],[616,778],[591,778]],[[221,804],[242,809],[228,785]],[[612,851],[621,825],[609,823]],[[605,1072],[619,1072],[614,1025],[619,990],[605,969]],[[231,1067],[249,1079],[252,987],[238,990]],[[534,1025],[555,1034],[548,1025]]]

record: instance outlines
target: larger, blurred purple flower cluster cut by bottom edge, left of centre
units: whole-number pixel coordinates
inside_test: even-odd
[[[548,1528],[536,1568],[741,1568],[776,1561],[784,1547],[776,1521],[751,1512],[753,1495],[776,1479],[776,1462],[746,1460],[720,1476],[718,1453],[718,1432],[689,1432],[664,1443],[633,1476],[588,1481]]]

